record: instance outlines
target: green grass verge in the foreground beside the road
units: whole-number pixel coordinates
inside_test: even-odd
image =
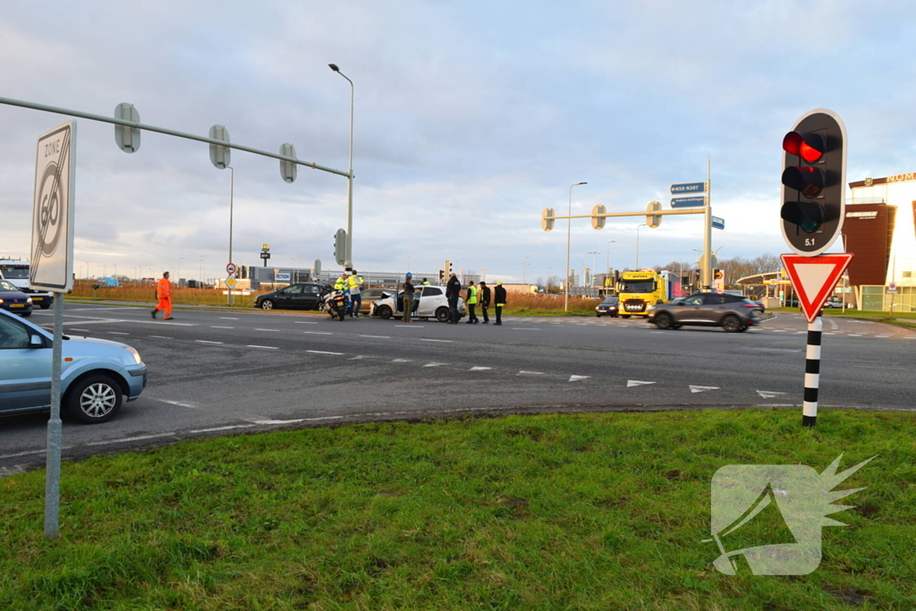
[[[371,423],[209,439],[0,479],[0,608],[912,609],[910,413],[797,409]],[[799,577],[712,567],[726,464],[878,459]]]

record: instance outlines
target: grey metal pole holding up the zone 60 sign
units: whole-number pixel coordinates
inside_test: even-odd
[[[60,533],[60,361],[63,355],[63,293],[54,293],[54,345],[51,348],[51,417],[45,459],[45,535]]]

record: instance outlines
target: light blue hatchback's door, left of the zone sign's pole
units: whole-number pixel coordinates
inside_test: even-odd
[[[0,314],[0,411],[45,408],[51,398],[51,348],[29,344],[27,325]]]

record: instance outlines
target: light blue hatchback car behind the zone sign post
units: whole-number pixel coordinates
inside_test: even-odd
[[[54,336],[0,311],[0,414],[50,409]],[[111,420],[147,386],[147,366],[126,344],[64,335],[60,407],[76,420]]]

